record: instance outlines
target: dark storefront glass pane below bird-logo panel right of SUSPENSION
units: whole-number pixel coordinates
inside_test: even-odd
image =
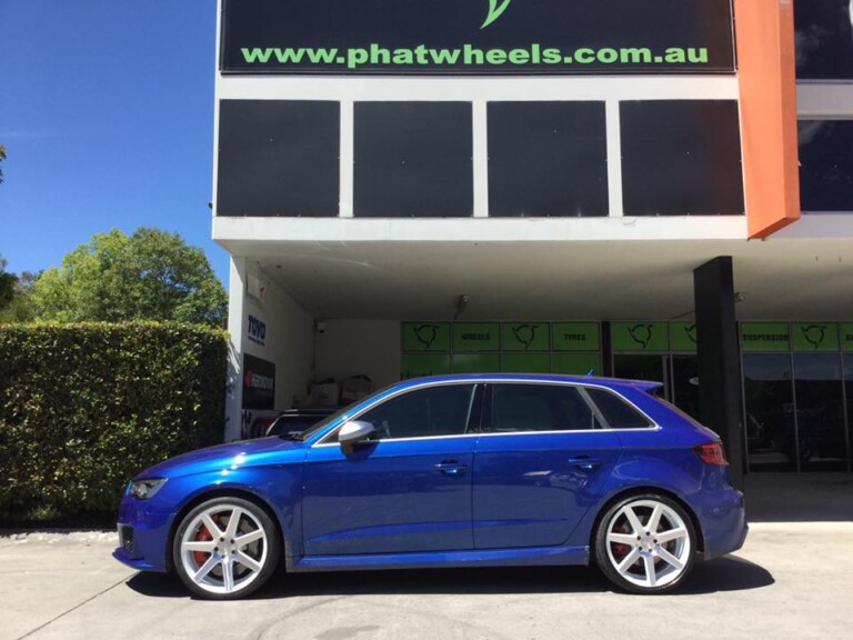
[[[844,389],[839,353],[794,353],[796,426],[802,471],[843,471]]]

